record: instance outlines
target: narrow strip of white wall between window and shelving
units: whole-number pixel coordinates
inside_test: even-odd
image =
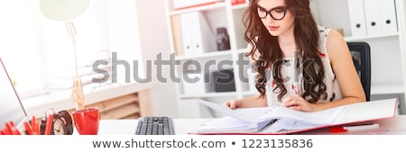
[[[157,55],[161,53],[163,59],[169,59],[171,52],[165,4],[161,0],[137,0],[136,7],[143,58],[145,61],[152,60],[152,72],[155,72],[157,67],[153,63]],[[168,66],[161,69],[161,76],[168,78],[169,82],[160,83],[152,89],[152,115],[178,117],[178,94],[174,83],[169,79],[174,69]],[[156,78],[156,74],[152,73],[152,77]]]

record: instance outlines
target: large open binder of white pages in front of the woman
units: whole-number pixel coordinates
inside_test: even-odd
[[[396,99],[348,104],[319,112],[300,112],[281,106],[231,110],[200,100],[199,103],[226,114],[201,123],[189,134],[289,134],[355,122],[394,117]]]

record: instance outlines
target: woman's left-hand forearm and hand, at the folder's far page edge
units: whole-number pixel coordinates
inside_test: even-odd
[[[250,97],[245,97],[242,99],[228,101],[224,104],[233,110],[236,108],[266,107],[267,106],[266,95],[263,98],[261,98],[261,94],[255,94]]]

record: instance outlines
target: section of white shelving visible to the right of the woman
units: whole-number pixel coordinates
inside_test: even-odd
[[[371,97],[403,97],[406,91],[406,29],[403,0],[394,0],[398,31],[352,36],[347,1],[310,0],[318,24],[333,29],[343,29],[346,41],[366,41],[371,46]],[[401,102],[401,113],[406,113],[405,102]]]

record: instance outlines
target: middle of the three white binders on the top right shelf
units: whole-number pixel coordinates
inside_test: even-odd
[[[381,0],[364,0],[366,32],[368,35],[382,34],[380,10]]]

